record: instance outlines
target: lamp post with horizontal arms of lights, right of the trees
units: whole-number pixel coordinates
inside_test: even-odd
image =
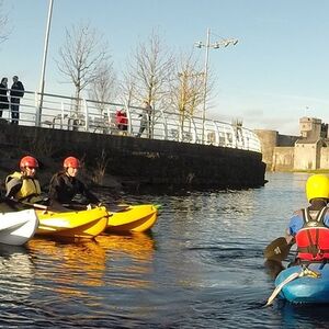
[[[238,43],[237,38],[223,38],[218,42],[211,43],[211,29],[207,29],[206,43],[196,42],[195,46],[197,48],[205,48],[205,63],[204,63],[204,94],[203,94],[203,111],[202,111],[202,144],[205,143],[204,131],[205,131],[205,112],[206,112],[206,101],[207,101],[207,79],[208,79],[208,64],[209,64],[209,48],[218,49],[220,47],[227,47],[229,45],[236,45]]]

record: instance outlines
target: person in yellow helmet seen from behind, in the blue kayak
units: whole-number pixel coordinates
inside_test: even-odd
[[[287,228],[286,240],[295,239],[298,261],[329,259],[329,178],[310,175],[306,182],[306,196],[310,205],[294,213]]]

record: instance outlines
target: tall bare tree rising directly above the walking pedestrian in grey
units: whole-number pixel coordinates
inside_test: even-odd
[[[173,56],[162,45],[155,32],[148,42],[140,43],[128,61],[129,86],[126,87],[132,102],[140,106],[147,101],[152,106],[148,136],[152,136],[156,123],[156,109],[160,110],[170,92],[170,79],[173,72]],[[134,82],[132,84],[132,81]]]

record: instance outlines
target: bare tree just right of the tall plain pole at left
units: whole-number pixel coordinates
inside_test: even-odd
[[[107,60],[107,45],[90,24],[80,23],[66,30],[65,44],[59,48],[58,69],[76,88],[76,112],[81,91],[99,76],[100,66]]]

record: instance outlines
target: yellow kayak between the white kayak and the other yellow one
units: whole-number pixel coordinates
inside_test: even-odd
[[[36,214],[39,220],[37,235],[89,239],[104,231],[109,217],[103,206],[60,213],[37,209]]]

